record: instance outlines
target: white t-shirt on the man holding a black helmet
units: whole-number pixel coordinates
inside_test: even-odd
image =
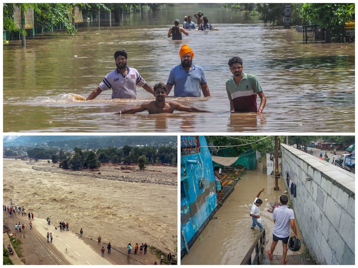
[[[294,213],[287,205],[281,205],[273,210],[272,218],[276,221],[272,233],[279,238],[289,236],[290,219],[294,219]]]

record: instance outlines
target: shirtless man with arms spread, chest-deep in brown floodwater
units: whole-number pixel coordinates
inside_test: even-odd
[[[182,105],[176,101],[166,101],[165,98],[167,97],[167,87],[163,83],[158,83],[154,86],[154,96],[156,98],[155,101],[144,102],[141,105],[131,109],[119,111],[119,113],[116,114],[135,114],[145,110],[147,110],[150,114],[173,113],[174,110],[184,112],[208,112],[200,110],[196,107]]]

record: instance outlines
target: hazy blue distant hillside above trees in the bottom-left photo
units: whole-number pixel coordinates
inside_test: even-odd
[[[177,136],[3,136],[3,146],[94,149],[109,146],[177,146]]]

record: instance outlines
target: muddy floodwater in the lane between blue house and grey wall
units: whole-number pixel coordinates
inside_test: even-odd
[[[274,227],[272,213],[268,211],[271,207],[269,203],[278,201],[285,188],[283,180],[280,179],[278,181],[279,191],[274,191],[274,177],[263,174],[266,173],[266,167],[263,168],[263,166],[265,166],[263,163],[259,163],[258,169],[247,171],[241,177],[235,190],[209,221],[190,248],[189,254],[186,254],[181,260],[181,264],[239,265],[259,235],[258,227],[255,230],[250,229],[252,224],[250,208],[256,195],[263,188],[265,188],[265,192],[261,194],[260,198],[264,203],[260,207],[260,215],[266,230],[266,249],[269,249]],[[266,199],[268,201],[265,201]],[[300,238],[298,226],[297,231]],[[298,252],[288,251],[287,254],[301,254],[302,250],[303,247]],[[281,242],[277,244],[274,255],[282,256]]]

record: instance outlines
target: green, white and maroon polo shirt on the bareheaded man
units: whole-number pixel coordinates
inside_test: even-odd
[[[257,93],[263,89],[255,75],[244,73],[239,84],[231,76],[226,81],[226,91],[235,112],[257,112]]]

